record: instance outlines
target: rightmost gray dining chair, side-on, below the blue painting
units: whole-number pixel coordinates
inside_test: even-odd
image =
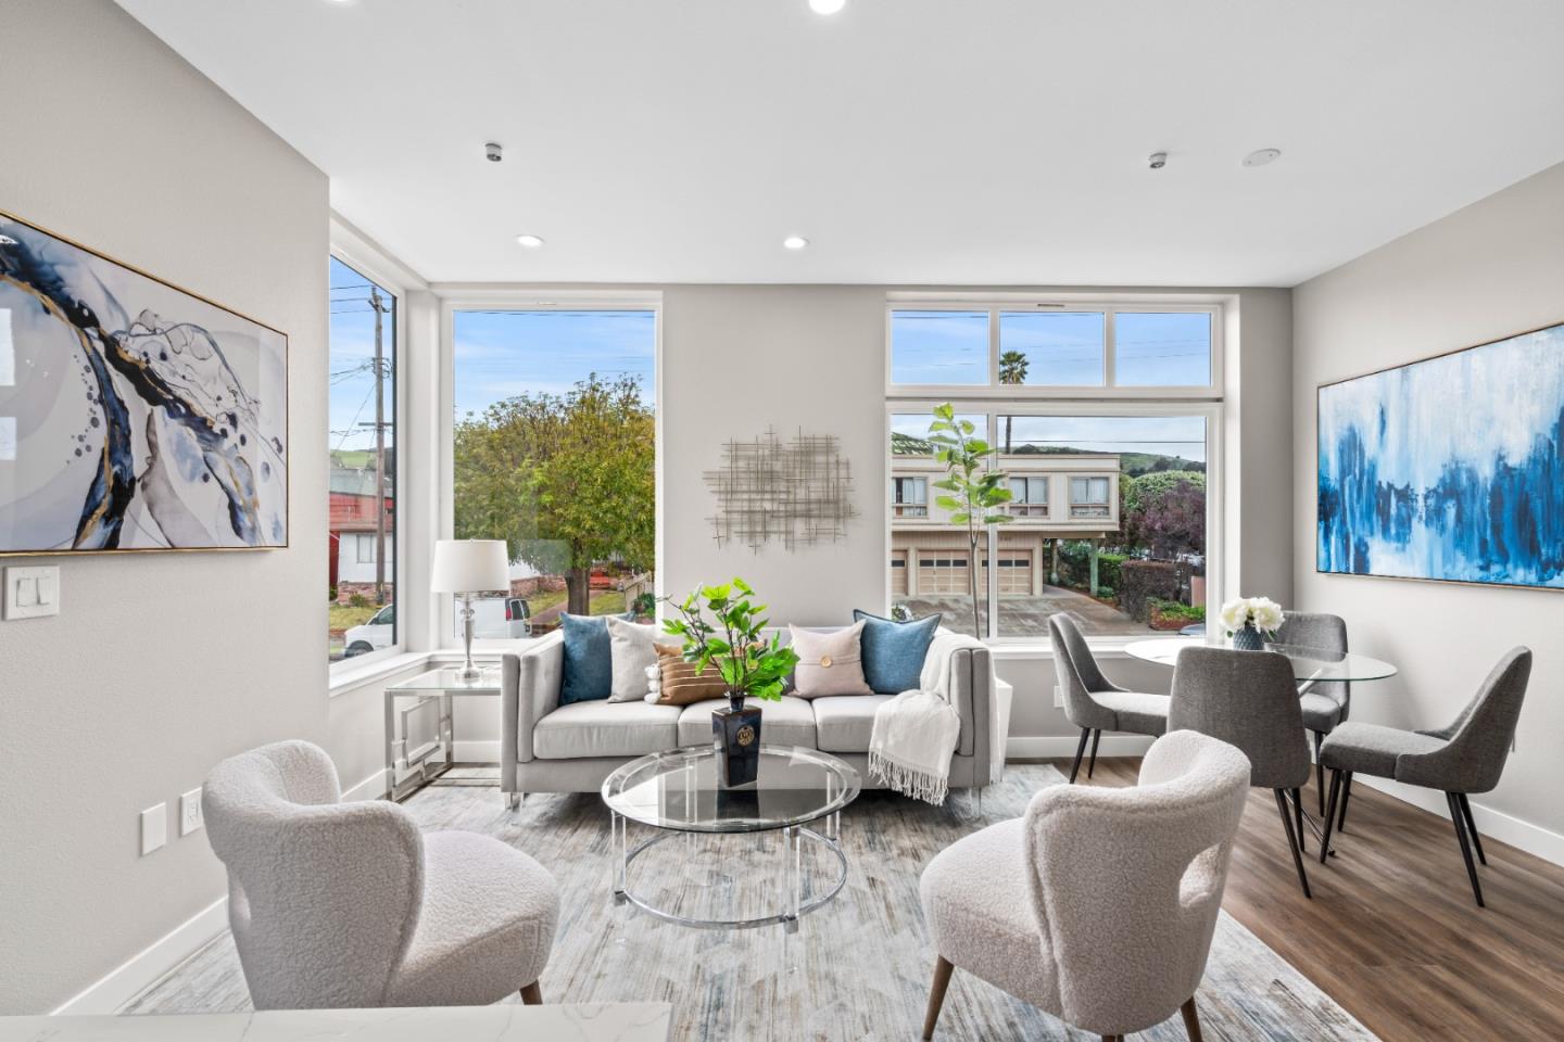
[[[1325,811],[1322,851],[1331,844],[1331,823],[1347,812],[1353,775],[1390,778],[1409,786],[1439,789],[1445,794],[1450,820],[1461,844],[1472,897],[1483,905],[1483,884],[1472,862],[1472,851],[1484,865],[1483,839],[1472,819],[1473,792],[1490,792],[1516,739],[1520,706],[1531,678],[1531,650],[1517,647],[1505,653],[1450,726],[1436,731],[1403,731],[1378,723],[1343,723],[1325,739],[1323,764],[1331,770],[1331,798]],[[1325,861],[1322,856],[1320,861]]]

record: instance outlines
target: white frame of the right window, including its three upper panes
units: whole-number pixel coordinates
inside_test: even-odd
[[[1206,617],[1215,619],[1217,606],[1225,591],[1226,545],[1226,320],[1231,297],[1217,294],[1037,294],[998,295],[978,294],[921,294],[891,292],[885,300],[885,426],[884,445],[887,469],[895,466],[890,451],[891,423],[896,416],[926,412],[932,405],[948,401],[957,414],[982,414],[987,417],[985,439],[990,445],[999,442],[1001,416],[1198,416],[1206,422]],[[1001,384],[999,373],[999,314],[1026,311],[1049,305],[1057,311],[1103,309],[1104,312],[1104,375],[1110,381],[1117,364],[1114,350],[1115,312],[1204,312],[1211,316],[1211,383],[1204,386],[1049,386],[1049,384]],[[988,311],[988,375],[990,384],[896,384],[891,383],[891,312],[895,311]],[[1068,509],[1068,487],[1065,489]],[[1109,492],[1112,495],[1112,491]],[[1053,509],[1053,503],[1049,503]],[[885,545],[890,547],[891,525],[896,519],[887,509],[884,517]],[[1067,519],[1068,520],[1068,519]],[[998,559],[998,526],[987,533],[979,555]],[[910,562],[909,562],[910,567]],[[998,569],[987,569],[984,619],[987,633],[982,641],[999,650],[1024,650],[1046,645],[1043,634],[999,636]],[[893,603],[890,569],[885,569],[885,609]],[[1167,637],[1176,637],[1170,633]],[[1156,633],[1126,636],[1093,636],[1089,644],[1095,650],[1121,651],[1135,641],[1159,639]]]

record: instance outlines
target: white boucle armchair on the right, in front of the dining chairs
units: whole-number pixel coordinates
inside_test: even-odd
[[[1104,1039],[1184,1012],[1195,989],[1250,790],[1232,745],[1159,737],[1132,789],[1051,786],[1026,817],[940,851],[923,872],[938,956],[923,1037],[960,967]]]

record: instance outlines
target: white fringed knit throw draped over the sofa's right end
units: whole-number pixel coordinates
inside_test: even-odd
[[[951,705],[951,659],[979,641],[940,630],[929,642],[918,687],[904,691],[874,711],[870,773],[902,795],[945,803],[951,753],[960,740],[962,715]]]

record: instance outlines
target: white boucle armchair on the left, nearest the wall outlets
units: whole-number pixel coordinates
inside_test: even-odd
[[[217,764],[202,814],[228,869],[228,922],[256,1009],[543,1000],[560,898],[527,855],[422,834],[385,800],[341,803],[308,742]]]

